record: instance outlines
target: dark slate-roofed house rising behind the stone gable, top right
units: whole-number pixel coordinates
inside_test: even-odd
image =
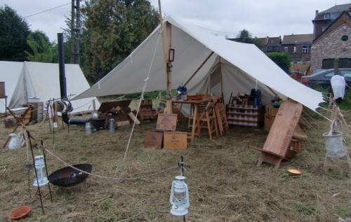
[[[351,4],[343,4],[333,6],[325,11],[319,13],[316,11],[316,15],[313,23],[313,39],[316,39],[324,30],[331,25],[331,23],[340,16],[343,11],[348,11]]]

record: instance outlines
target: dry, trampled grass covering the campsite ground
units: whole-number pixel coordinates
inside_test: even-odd
[[[336,221],[351,216],[350,174],[333,170],[322,172],[324,140],[328,125],[317,122],[318,130],[306,130],[309,139],[303,152],[278,170],[269,165],[256,167],[259,152],[249,146],[263,146],[263,130],[232,127],[225,137],[209,141],[202,137],[186,151],[150,150],[144,147],[145,132],[155,125],[142,124],[135,134],[124,167],[124,176],[158,172],[176,165],[180,155],[187,164],[190,187],[190,214],[187,221]],[[46,147],[69,163],[88,162],[93,172],[118,176],[131,127],[120,127],[115,134],[107,130],[84,135],[84,127],[59,129],[53,148],[48,123],[28,127],[34,137],[44,139]],[[0,129],[3,144],[10,130]],[[169,214],[171,181],[179,172],[166,172],[136,181],[105,181],[89,176],[78,188],[43,188],[45,214],[31,186],[27,191],[25,149],[0,151],[0,221],[21,204],[33,211],[26,221],[182,221]],[[63,167],[48,156],[48,170]],[[303,175],[291,177],[287,167],[298,167]],[[31,183],[33,172],[31,171]],[[339,194],[337,194],[339,193]],[[337,195],[336,195],[337,194]]]

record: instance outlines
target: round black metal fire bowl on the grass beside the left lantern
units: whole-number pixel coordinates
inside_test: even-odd
[[[90,164],[77,164],[72,166],[89,173],[93,170],[93,166]],[[88,174],[79,172],[77,169],[64,167],[50,174],[48,176],[48,181],[55,186],[69,187],[85,181],[88,176]]]

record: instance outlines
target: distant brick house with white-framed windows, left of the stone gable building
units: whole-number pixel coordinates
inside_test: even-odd
[[[313,34],[291,34],[283,36],[281,51],[288,53],[292,62],[310,61]]]

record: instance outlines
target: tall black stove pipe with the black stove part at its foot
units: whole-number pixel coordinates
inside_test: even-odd
[[[67,99],[65,54],[63,53],[63,34],[58,33],[58,70],[60,72],[60,93],[62,99]],[[85,125],[89,119],[70,119],[68,113],[62,113],[62,120],[70,125]]]

